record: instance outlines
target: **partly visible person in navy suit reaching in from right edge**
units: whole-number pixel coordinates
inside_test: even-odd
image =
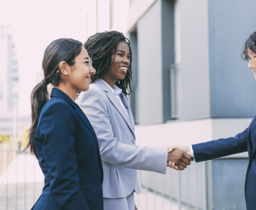
[[[246,40],[241,57],[249,61],[248,68],[252,70],[256,80],[256,31]],[[173,149],[191,154],[196,162],[248,151],[249,164],[245,179],[246,208],[247,210],[256,209],[256,116],[249,127],[235,137],[220,138],[190,146],[175,145],[169,148],[169,152]],[[173,162],[169,162],[169,166],[175,168]]]

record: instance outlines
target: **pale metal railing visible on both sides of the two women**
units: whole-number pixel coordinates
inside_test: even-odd
[[[0,150],[0,210],[30,209],[42,193],[43,173],[30,151]],[[1,168],[1,167],[0,167]],[[205,163],[191,164],[184,171],[168,168],[165,175],[138,170],[141,194],[138,209],[205,210]],[[201,175],[200,175],[201,174]],[[192,185],[193,186],[192,186]]]

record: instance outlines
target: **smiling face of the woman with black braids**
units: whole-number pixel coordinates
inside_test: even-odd
[[[114,87],[114,84],[118,79],[122,80],[125,78],[130,66],[130,48],[126,42],[120,42],[117,45],[117,50],[113,49],[111,63],[113,64],[108,69],[104,79],[110,86]]]

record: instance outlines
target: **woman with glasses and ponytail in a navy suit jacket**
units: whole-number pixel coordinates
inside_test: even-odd
[[[30,147],[45,176],[34,210],[103,210],[103,168],[97,136],[74,102],[95,69],[81,42],[53,41],[44,52],[44,79],[31,93]],[[52,83],[51,99],[47,84]]]

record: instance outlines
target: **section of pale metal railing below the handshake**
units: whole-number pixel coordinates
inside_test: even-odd
[[[138,209],[209,209],[206,165],[206,162],[191,163],[184,171],[167,168],[166,174],[138,170],[142,192],[135,195]]]

